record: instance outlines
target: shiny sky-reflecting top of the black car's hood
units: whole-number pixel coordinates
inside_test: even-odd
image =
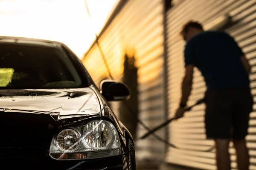
[[[90,88],[1,90],[0,111],[46,113],[56,121],[101,114],[99,100]]]

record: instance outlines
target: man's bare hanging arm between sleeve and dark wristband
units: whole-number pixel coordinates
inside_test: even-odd
[[[182,81],[182,95],[180,103],[186,105],[192,90],[194,65],[186,65],[185,76]]]

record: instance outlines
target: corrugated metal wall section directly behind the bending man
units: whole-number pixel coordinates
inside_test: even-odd
[[[253,95],[256,94],[256,0],[180,0],[175,3],[167,14],[168,32],[168,96],[169,116],[172,117],[177,109],[180,100],[181,78],[184,74],[183,48],[185,42],[179,37],[179,31],[188,20],[198,20],[206,28],[221,20],[225,14],[230,15],[233,25],[227,28],[243,51],[247,54],[253,65],[250,75]],[[192,96],[188,104],[194,104],[197,99],[204,96],[206,91],[204,79],[201,73],[195,69]],[[254,108],[256,105],[254,106]],[[213,146],[212,140],[206,140],[204,130],[204,108],[205,105],[198,105],[185,117],[173,122],[169,126],[169,141],[178,147],[189,150],[177,150],[169,148],[166,161],[174,164],[181,164],[190,167],[197,167],[206,170],[214,170],[214,152],[201,152]],[[248,147],[250,148],[250,170],[256,170],[256,112],[251,113],[250,134],[247,136]],[[232,169],[236,169],[235,150],[230,144]]]

